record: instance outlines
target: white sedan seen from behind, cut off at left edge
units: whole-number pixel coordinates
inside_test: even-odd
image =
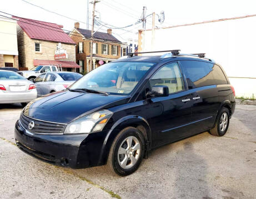
[[[36,86],[17,72],[0,70],[0,103],[21,103],[37,98]]]

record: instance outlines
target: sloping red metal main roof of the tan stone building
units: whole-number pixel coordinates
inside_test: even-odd
[[[61,29],[62,25],[49,22],[41,22],[39,20],[13,17],[18,19],[18,25],[31,39],[56,41],[61,43],[76,44]]]

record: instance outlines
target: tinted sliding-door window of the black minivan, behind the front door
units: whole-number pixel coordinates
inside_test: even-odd
[[[188,88],[215,85],[210,63],[204,61],[181,61]]]

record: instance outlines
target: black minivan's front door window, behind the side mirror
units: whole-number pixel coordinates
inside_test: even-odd
[[[184,82],[182,74],[179,70],[177,62],[163,66],[149,80],[150,86],[168,86],[169,93],[184,90]]]

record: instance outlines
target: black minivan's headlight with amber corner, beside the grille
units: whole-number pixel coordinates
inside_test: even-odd
[[[101,131],[111,118],[112,112],[102,110],[94,112],[69,123],[64,134],[93,133]]]

